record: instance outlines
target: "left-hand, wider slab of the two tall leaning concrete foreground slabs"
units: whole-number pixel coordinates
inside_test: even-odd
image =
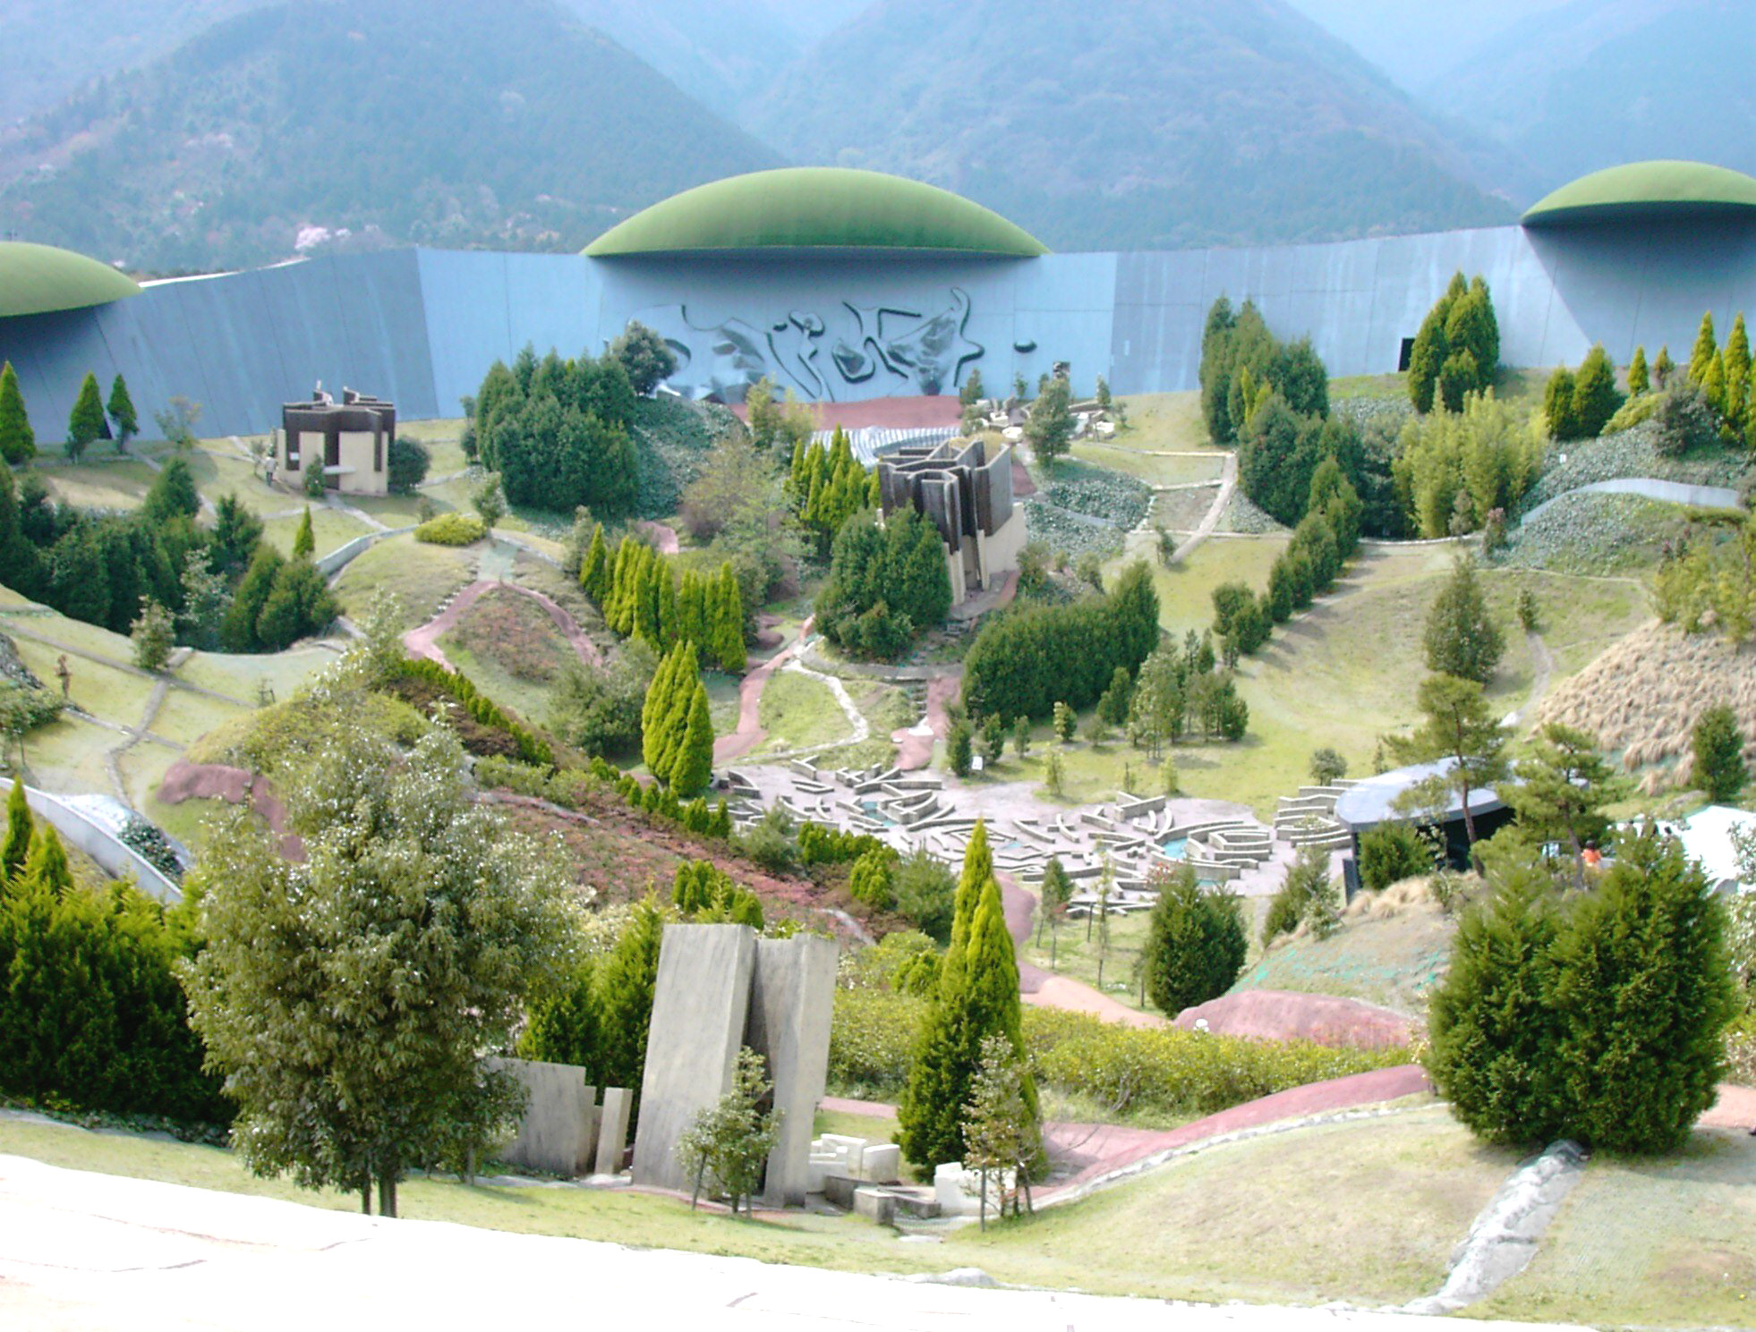
[[[757,934],[748,925],[667,925],[646,1037],[634,1183],[688,1186],[678,1139],[732,1081],[750,1011]]]

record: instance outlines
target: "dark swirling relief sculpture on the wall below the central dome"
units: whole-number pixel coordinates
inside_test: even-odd
[[[950,290],[936,314],[897,305],[841,302],[829,316],[788,311],[757,325],[725,319],[702,326],[687,305],[641,311],[676,353],[671,386],[694,398],[743,402],[764,376],[811,402],[910,393],[955,393],[983,347],[966,335],[969,295]]]

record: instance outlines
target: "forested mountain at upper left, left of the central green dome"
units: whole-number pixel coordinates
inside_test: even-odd
[[[550,0],[299,0],[0,137],[0,228],[155,272],[286,258],[304,228],[578,249],[773,165]]]

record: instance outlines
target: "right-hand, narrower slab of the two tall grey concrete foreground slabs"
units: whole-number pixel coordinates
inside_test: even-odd
[[[832,939],[815,934],[757,941],[745,1044],[767,1060],[774,1107],[781,1113],[762,1192],[771,1207],[804,1206],[810,1190],[813,1121],[829,1079],[839,953]]]

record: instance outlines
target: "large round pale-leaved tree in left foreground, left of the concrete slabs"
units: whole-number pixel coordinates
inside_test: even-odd
[[[474,802],[443,728],[406,755],[344,728],[313,758],[283,790],[302,863],[242,811],[209,842],[205,948],[183,978],[248,1167],[358,1190],[363,1209],[376,1181],[393,1216],[409,1169],[518,1113],[481,1055],[569,972],[569,877]]]

